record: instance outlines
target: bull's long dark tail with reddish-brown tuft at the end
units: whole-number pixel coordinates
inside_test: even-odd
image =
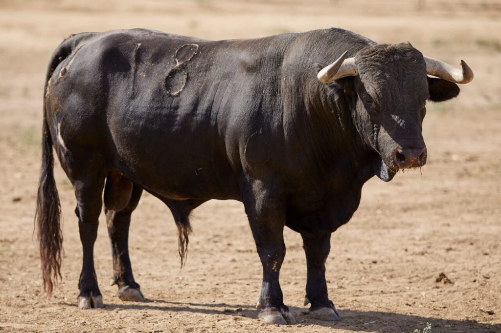
[[[38,239],[40,242],[44,290],[49,294],[52,293],[54,283],[61,279],[63,233],[61,231],[61,203],[54,179],[53,142],[47,118],[45,99],[47,97],[49,79],[58,64],[73,52],[80,41],[91,35],[93,34],[77,34],[63,41],[52,54],[45,81],[44,119],[42,125],[42,168],[38,185],[35,224],[38,228]]]

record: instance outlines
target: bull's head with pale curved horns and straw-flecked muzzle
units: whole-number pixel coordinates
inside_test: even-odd
[[[350,58],[346,54],[317,76],[323,83],[356,76],[354,122],[365,142],[381,155],[375,173],[389,181],[398,170],[424,165],[421,125],[426,100],[457,96],[455,83],[471,81],[471,69],[462,60],[458,69],[423,56],[410,43],[366,47]]]

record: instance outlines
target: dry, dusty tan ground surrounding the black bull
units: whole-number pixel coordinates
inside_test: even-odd
[[[102,2],[0,1],[0,331],[412,332],[429,322],[433,332],[501,332],[499,1]],[[59,165],[63,283],[52,298],[41,293],[32,231],[42,90],[49,56],[64,37],[148,27],[222,39],[329,26],[380,42],[409,40],[430,56],[463,58],[475,72],[457,99],[429,106],[422,173],[399,174],[390,183],[371,179],[353,219],[334,233],[327,277],[342,321],[320,322],[304,312],[299,234],[285,232],[281,274],[285,302],[299,323],[266,326],[254,309],[261,264],[242,205],[210,201],[194,211],[180,271],[172,217],[147,194],[133,215],[130,248],[148,302],[122,302],[109,286],[102,219],[95,257],[106,307],[79,310],[75,197]],[[441,272],[452,283],[435,282]]]

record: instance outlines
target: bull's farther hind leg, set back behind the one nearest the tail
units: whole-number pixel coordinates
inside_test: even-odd
[[[128,245],[130,217],[132,211],[137,207],[142,192],[143,189],[134,184],[131,189],[129,202],[123,209],[117,211],[105,207],[111,254],[113,256],[112,279],[113,284],[118,285],[118,297],[121,300],[145,300],[140,286],[134,280],[134,275],[132,274]]]

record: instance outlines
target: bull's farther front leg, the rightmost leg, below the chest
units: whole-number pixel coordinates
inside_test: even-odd
[[[306,253],[308,277],[306,280],[305,305],[311,303],[310,314],[320,320],[341,319],[334,303],[329,300],[325,280],[325,260],[331,249],[331,233],[321,236],[301,234]]]

